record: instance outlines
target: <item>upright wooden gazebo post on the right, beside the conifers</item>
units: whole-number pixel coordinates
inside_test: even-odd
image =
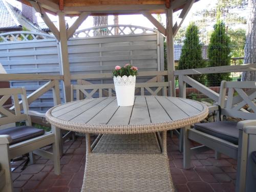
[[[168,81],[172,81],[171,96],[175,96],[175,76],[174,76],[174,39],[173,39],[173,8],[167,9],[166,14],[166,51],[167,51],[167,71]]]

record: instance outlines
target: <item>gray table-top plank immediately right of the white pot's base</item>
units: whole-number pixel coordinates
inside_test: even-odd
[[[134,102],[130,124],[151,123],[145,97],[137,96]]]

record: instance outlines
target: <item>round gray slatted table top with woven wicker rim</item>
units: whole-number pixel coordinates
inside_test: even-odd
[[[84,99],[54,106],[47,120],[61,129],[83,133],[148,133],[201,121],[205,104],[178,97],[136,96],[134,105],[118,106],[115,97]],[[136,131],[137,130],[137,131]]]

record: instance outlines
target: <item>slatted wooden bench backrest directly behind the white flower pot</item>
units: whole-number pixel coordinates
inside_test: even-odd
[[[167,96],[168,82],[142,82],[136,83],[135,95],[163,95]],[[86,84],[86,85],[71,85],[71,100],[93,97],[112,97],[115,95],[115,86],[111,84]]]

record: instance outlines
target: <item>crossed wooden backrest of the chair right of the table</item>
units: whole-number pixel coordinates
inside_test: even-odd
[[[226,97],[226,91],[228,94]],[[256,119],[256,81],[222,81],[220,88],[219,105],[221,115],[238,117],[241,119]],[[244,110],[248,105],[251,111]]]

